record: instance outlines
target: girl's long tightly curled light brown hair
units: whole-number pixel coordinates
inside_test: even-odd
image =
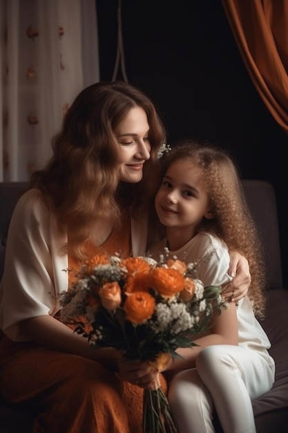
[[[191,170],[193,167],[201,169],[215,217],[203,219],[199,230],[213,232],[227,244],[229,250],[237,250],[248,259],[251,273],[248,295],[253,300],[256,315],[262,317],[266,283],[262,241],[244,197],[236,163],[224,149],[191,140],[176,143],[163,158],[162,173],[178,160],[189,161]]]

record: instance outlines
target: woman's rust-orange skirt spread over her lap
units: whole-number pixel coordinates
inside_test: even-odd
[[[3,338],[0,385],[35,417],[33,433],[142,433],[143,389],[99,362]]]

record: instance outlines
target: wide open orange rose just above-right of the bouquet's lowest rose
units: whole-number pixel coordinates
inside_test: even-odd
[[[151,287],[166,297],[174,296],[184,288],[184,277],[172,268],[152,268],[149,280]]]

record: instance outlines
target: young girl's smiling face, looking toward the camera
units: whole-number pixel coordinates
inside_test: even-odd
[[[167,228],[184,228],[191,237],[203,217],[213,218],[202,173],[186,160],[177,160],[166,171],[155,197],[159,219]]]

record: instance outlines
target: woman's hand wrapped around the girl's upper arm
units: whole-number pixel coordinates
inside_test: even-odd
[[[231,283],[224,291],[223,296],[228,300],[238,302],[247,295],[251,284],[249,263],[246,257],[240,255],[238,251],[229,251],[230,266],[229,275],[233,277]]]

